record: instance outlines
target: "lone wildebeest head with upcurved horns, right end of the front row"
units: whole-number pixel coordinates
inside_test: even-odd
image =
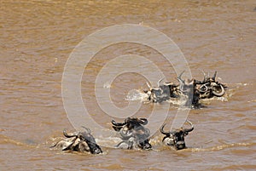
[[[179,128],[175,129],[169,132],[164,131],[164,127],[166,124],[164,124],[160,128],[160,133],[165,134],[165,137],[163,138],[163,142],[166,145],[172,145],[177,150],[181,150],[186,148],[185,139],[184,137],[189,134],[189,132],[193,131],[194,126],[191,122],[187,121],[191,125],[191,128]]]

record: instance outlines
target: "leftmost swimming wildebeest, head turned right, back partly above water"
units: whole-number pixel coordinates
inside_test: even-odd
[[[90,129],[85,128],[84,132],[75,132],[67,134],[66,130],[63,131],[64,136],[67,138],[57,142],[53,147],[61,147],[62,151],[90,151],[91,154],[100,154],[102,149],[96,144],[96,140],[90,134]]]

